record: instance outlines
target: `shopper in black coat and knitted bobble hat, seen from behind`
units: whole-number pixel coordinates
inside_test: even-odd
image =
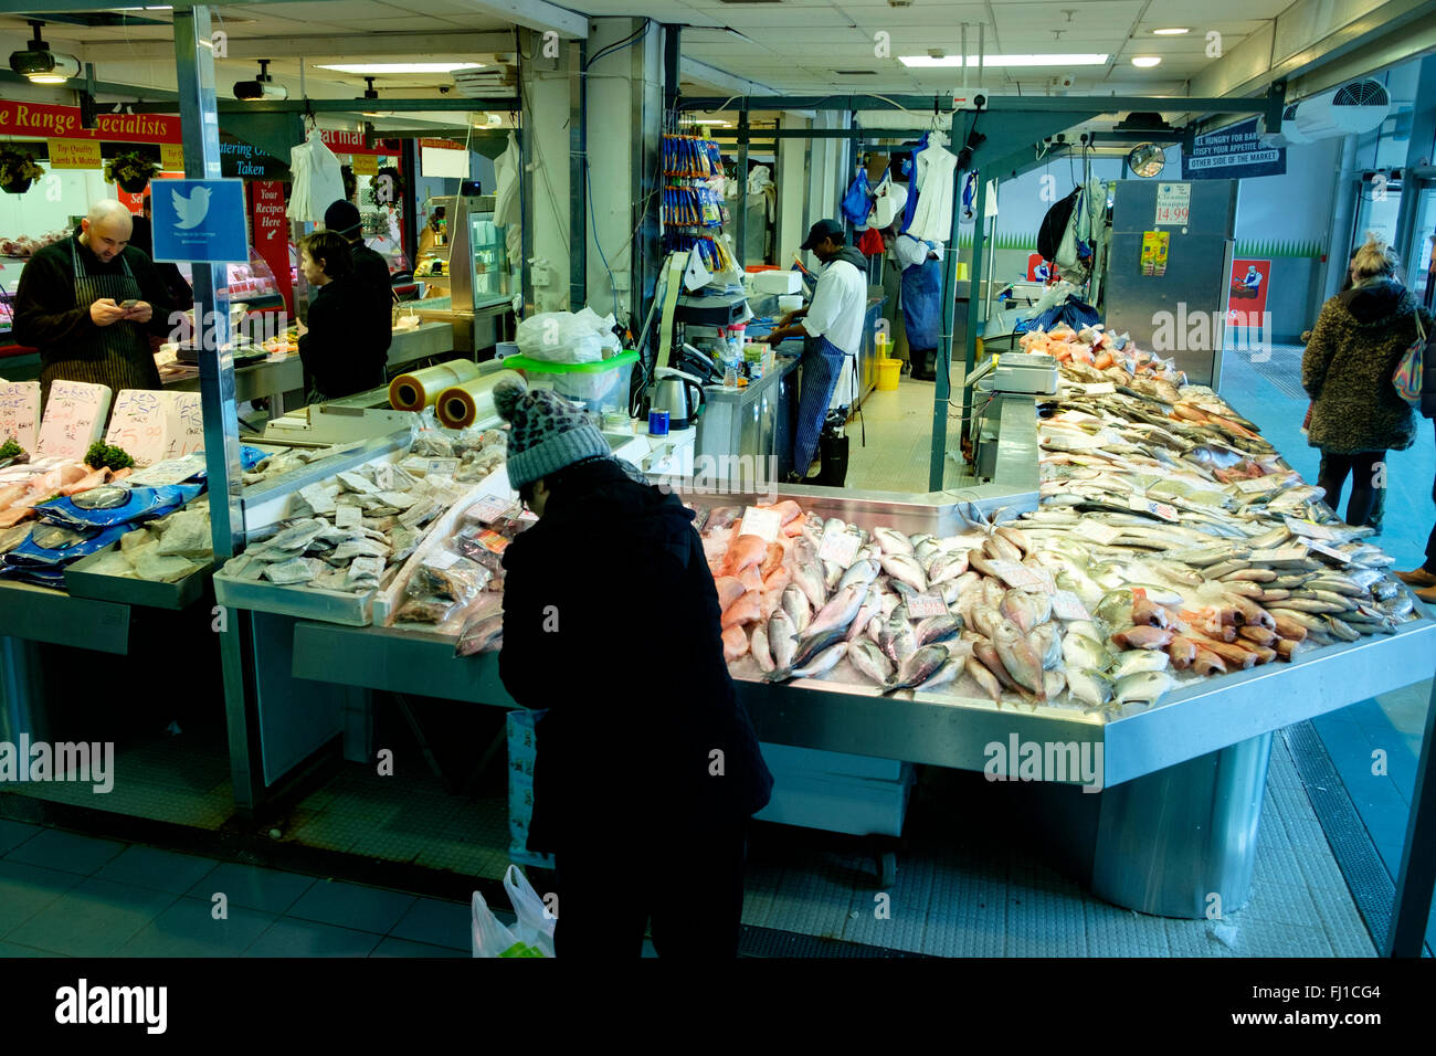
[[[538,514],[504,552],[498,671],[537,723],[528,848],[559,871],[557,951],[732,957],[745,830],[773,777],[722,652],[691,511],[582,411],[495,389],[508,476]]]

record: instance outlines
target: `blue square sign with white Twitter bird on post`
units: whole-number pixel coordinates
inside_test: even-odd
[[[248,263],[241,180],[155,180],[149,191],[155,260]]]

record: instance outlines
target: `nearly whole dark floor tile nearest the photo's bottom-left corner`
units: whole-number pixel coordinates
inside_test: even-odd
[[[6,938],[70,957],[111,957],[174,901],[175,897],[164,891],[90,876]]]

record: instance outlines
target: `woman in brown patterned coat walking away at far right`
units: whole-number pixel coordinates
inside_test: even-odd
[[[1376,488],[1384,487],[1386,453],[1416,441],[1416,418],[1391,375],[1416,339],[1414,297],[1396,280],[1396,256],[1377,241],[1351,260],[1350,290],[1321,307],[1301,361],[1313,399],[1308,443],[1325,468],[1317,484],[1334,510],[1351,476],[1348,524],[1366,524]]]

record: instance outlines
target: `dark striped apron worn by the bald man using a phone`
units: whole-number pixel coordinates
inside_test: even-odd
[[[75,273],[75,307],[89,310],[90,305],[102,297],[112,297],[116,305],[139,300],[139,282],[123,256],[119,259],[122,272],[90,274],[72,241],[70,260]],[[108,385],[112,394],[119,395],[121,389],[158,389],[159,369],[149,351],[149,338],[141,325],[122,320],[96,326],[83,338],[73,338],[60,346],[46,349],[45,365],[40,368],[42,402],[49,398],[53,381]]]

